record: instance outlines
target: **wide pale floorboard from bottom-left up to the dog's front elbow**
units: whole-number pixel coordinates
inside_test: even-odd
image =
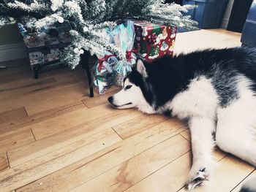
[[[20,188],[20,191],[33,191],[35,188],[37,191],[68,191],[183,130],[184,127],[181,124],[176,124],[173,120],[167,120],[139,134],[135,134],[133,137],[118,142],[99,153],[95,153],[89,158],[85,158],[45,178],[36,180]],[[43,184],[39,185],[40,183]],[[69,183],[69,185],[63,185],[63,183]]]

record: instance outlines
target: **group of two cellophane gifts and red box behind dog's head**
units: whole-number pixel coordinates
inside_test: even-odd
[[[98,55],[93,72],[94,86],[99,94],[104,94],[110,85],[122,86],[124,77],[132,71],[138,57],[150,63],[163,55],[173,55],[176,32],[177,28],[170,26],[131,20],[108,31],[110,43],[126,53],[126,58],[118,59],[108,50]]]

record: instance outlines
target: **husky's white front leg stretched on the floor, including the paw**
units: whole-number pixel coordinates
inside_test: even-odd
[[[193,117],[189,120],[192,137],[193,163],[187,180],[187,188],[203,184],[209,178],[214,160],[211,149],[214,147],[213,132],[215,122],[210,118]]]

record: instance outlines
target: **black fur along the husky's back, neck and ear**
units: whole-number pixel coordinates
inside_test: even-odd
[[[148,77],[133,69],[128,78],[140,86],[148,104],[155,110],[188,88],[192,79],[203,75],[219,96],[219,104],[226,107],[238,99],[237,78],[244,75],[252,80],[256,92],[256,49],[236,47],[222,50],[203,50],[175,57],[164,56],[152,63],[144,62]]]

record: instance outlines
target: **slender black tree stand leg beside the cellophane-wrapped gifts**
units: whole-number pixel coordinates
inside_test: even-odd
[[[94,84],[91,77],[91,71],[89,69],[89,56],[90,56],[90,53],[84,50],[84,53],[81,54],[80,64],[82,65],[83,70],[85,70],[87,74],[87,79],[89,82],[89,91],[90,91],[89,96],[94,97]]]

